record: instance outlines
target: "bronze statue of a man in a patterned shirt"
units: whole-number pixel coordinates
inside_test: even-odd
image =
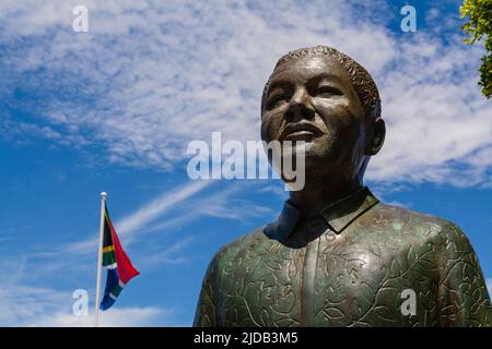
[[[305,186],[276,222],[215,254],[195,326],[492,325],[464,232],[363,186],[385,139],[363,67],[325,46],[282,57],[263,91],[261,137],[294,141],[293,151],[305,142]]]

